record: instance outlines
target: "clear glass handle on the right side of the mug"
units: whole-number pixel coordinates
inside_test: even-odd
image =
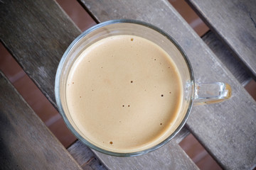
[[[194,105],[219,103],[231,97],[231,87],[222,82],[198,84],[196,83]]]

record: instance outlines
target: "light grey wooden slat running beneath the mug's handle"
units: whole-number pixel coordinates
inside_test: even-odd
[[[224,103],[193,107],[187,127],[224,169],[250,169],[256,164],[256,103],[167,1],[85,1],[98,21],[132,18],[169,33],[185,50],[196,81],[223,81],[233,88]]]

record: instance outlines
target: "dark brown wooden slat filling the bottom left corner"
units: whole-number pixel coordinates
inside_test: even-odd
[[[81,169],[0,72],[1,169]]]

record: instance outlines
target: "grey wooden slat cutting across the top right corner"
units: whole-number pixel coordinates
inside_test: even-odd
[[[186,1],[256,79],[256,1]]]

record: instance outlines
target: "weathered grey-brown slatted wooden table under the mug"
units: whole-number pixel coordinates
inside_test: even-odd
[[[232,86],[233,96],[228,101],[195,106],[178,137],[154,152],[132,158],[110,157],[91,152],[79,141],[65,149],[1,74],[1,168],[88,169],[86,165],[92,161],[88,155],[96,155],[103,165],[90,166],[92,169],[198,169],[178,145],[187,132],[193,133],[224,169],[255,168],[256,103],[242,82],[248,79],[243,67],[250,70],[250,77],[255,76],[256,15],[252,9],[256,8],[256,1],[227,0],[217,5],[210,0],[189,2],[213,28],[213,33],[203,40],[168,1],[80,0],[97,23],[132,18],[165,30],[185,50],[197,81],[223,81]],[[229,34],[231,30],[235,31]],[[0,1],[1,42],[55,107],[58,62],[80,33],[53,0]],[[241,35],[245,39],[240,40]],[[231,52],[223,50],[222,43]],[[240,62],[227,62],[233,61],[233,54],[244,63],[242,67]]]

